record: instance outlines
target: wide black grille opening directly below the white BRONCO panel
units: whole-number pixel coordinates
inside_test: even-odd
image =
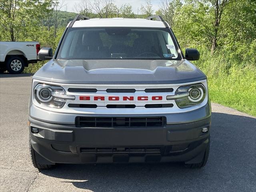
[[[154,127],[166,126],[166,117],[76,117],[77,127]]]

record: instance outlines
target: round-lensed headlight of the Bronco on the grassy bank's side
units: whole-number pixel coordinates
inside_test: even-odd
[[[167,96],[167,100],[175,100],[179,108],[199,105],[204,101],[206,89],[202,84],[186,85],[179,87],[174,96]]]

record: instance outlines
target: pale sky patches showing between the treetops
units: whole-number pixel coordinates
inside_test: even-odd
[[[62,0],[60,0],[61,2]],[[61,10],[63,11],[69,11],[69,12],[76,12],[74,5],[75,4],[79,4],[82,0],[64,0],[64,4],[66,4],[66,6],[63,6],[61,8]],[[93,1],[93,0],[92,0]],[[154,11],[159,9],[159,5],[161,0],[151,0],[152,4],[153,4],[153,9]],[[121,7],[122,4],[131,4],[133,11],[135,14],[137,14],[137,12],[139,11],[140,14],[140,7],[142,4],[145,4],[145,0],[114,0],[114,3],[118,6]]]

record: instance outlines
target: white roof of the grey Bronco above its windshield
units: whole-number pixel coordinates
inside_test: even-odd
[[[74,22],[72,27],[156,27],[165,28],[162,21],[147,19],[107,18],[89,19]]]

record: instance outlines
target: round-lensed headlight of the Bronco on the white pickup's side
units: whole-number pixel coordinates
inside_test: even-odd
[[[67,96],[60,86],[37,84],[34,88],[34,98],[43,106],[62,108],[66,100],[74,100],[75,96]]]

